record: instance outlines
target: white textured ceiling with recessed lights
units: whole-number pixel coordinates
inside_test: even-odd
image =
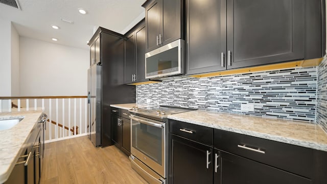
[[[0,4],[0,18],[13,22],[20,36],[87,49],[101,26],[125,34],[145,16],[145,0],[18,0],[21,10]],[[82,15],[78,8],[87,14]],[[74,21],[68,24],[61,18]],[[57,25],[59,30],[51,28]]]

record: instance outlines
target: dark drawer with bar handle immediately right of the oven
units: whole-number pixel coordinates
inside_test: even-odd
[[[185,137],[206,145],[213,145],[213,128],[191,123],[169,120],[170,133]]]

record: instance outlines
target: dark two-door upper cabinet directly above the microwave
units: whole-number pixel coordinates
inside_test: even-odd
[[[147,1],[145,7],[146,52],[183,36],[184,0]]]

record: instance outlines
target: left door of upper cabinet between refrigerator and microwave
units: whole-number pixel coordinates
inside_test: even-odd
[[[128,36],[125,40],[125,78],[124,83],[129,84],[134,82],[135,75],[135,36],[134,33]]]

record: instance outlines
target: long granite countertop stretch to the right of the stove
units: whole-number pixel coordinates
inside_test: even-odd
[[[177,113],[168,118],[327,151],[327,134],[316,124],[204,110]]]

